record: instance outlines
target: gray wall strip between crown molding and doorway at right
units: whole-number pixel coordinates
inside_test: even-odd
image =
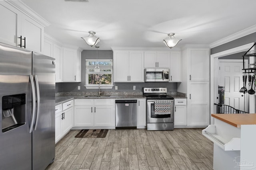
[[[214,47],[214,48],[211,49],[211,54],[219,53],[221,51],[225,51],[225,50],[228,50],[228,49],[239,47],[241,45],[253,43],[255,41],[256,41],[256,32],[252,33],[252,34],[249,34],[249,35],[246,35],[244,37],[235,39],[235,40],[230,41],[228,43],[219,45],[217,47]]]

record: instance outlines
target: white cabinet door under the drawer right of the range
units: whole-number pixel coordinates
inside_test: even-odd
[[[174,125],[187,125],[187,106],[174,105]]]

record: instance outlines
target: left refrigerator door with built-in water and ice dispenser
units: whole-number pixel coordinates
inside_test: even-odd
[[[3,170],[32,169],[30,74],[32,53],[0,43],[0,169]]]

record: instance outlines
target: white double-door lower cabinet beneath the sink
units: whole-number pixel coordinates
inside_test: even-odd
[[[114,100],[75,99],[74,127],[115,127]]]

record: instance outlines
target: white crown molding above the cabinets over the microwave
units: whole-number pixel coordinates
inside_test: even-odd
[[[111,47],[113,51],[180,51],[180,48],[173,47]]]

